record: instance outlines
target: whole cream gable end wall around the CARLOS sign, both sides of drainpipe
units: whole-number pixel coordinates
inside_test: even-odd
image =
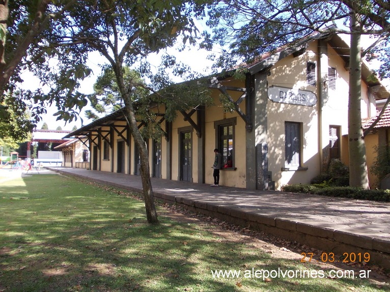
[[[272,180],[280,189],[284,184],[310,183],[322,169],[322,152],[328,147],[329,126],[339,126],[341,135],[348,133],[348,94],[349,72],[345,69],[345,63],[330,46],[327,54],[318,53],[318,43],[310,43],[307,51],[298,57],[292,55],[277,62],[268,76],[268,86],[276,85],[298,90],[311,91],[317,96],[317,104],[313,107],[276,103],[268,100],[268,161],[269,171],[272,171]],[[321,57],[320,57],[321,56]],[[320,58],[325,58],[321,59]],[[336,90],[327,89],[324,81],[317,86],[307,85],[307,62],[315,62],[317,80],[321,74],[323,80],[327,80],[328,67],[336,68]],[[326,68],[325,68],[326,67]],[[321,88],[321,86],[324,86]],[[325,89],[325,90],[324,90]],[[370,100],[368,100],[367,85],[362,84],[362,117],[371,114]],[[321,106],[322,96],[322,106]],[[308,170],[281,171],[285,163],[285,122],[299,122],[302,125],[301,135],[301,166]],[[341,137],[340,137],[341,138]],[[341,139],[341,148],[344,148]],[[341,158],[347,160],[344,155],[348,152],[341,151]]]

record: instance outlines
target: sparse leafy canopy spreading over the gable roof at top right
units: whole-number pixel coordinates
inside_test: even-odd
[[[206,47],[218,43],[224,48],[217,65],[222,68],[253,62],[259,55],[296,42],[313,32],[353,34],[351,13],[360,15],[359,34],[370,35],[380,54],[381,77],[388,77],[390,6],[372,0],[304,1],[219,1],[210,6],[208,24],[213,34],[205,32]],[[355,32],[356,33],[356,32]],[[374,42],[374,38],[377,42]],[[378,45],[379,44],[379,45]]]

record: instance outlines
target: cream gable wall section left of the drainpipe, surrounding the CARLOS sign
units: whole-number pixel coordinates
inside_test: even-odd
[[[315,46],[298,57],[288,56],[275,64],[268,76],[268,84],[289,87],[298,90],[312,91],[317,95],[315,86],[306,82],[307,62],[316,61]],[[315,106],[302,106],[277,103],[268,100],[268,170],[272,171],[275,187],[284,184],[309,183],[312,176],[319,173],[319,137],[318,137],[318,100]],[[309,170],[282,171],[285,167],[285,122],[302,123],[301,155],[302,167]]]

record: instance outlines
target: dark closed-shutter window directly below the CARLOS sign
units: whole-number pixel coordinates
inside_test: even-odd
[[[300,167],[300,123],[285,122],[285,167]]]

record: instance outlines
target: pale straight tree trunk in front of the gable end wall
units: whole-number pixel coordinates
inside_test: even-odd
[[[361,127],[360,25],[351,11],[351,49],[348,101],[349,185],[369,189],[366,145]]]

